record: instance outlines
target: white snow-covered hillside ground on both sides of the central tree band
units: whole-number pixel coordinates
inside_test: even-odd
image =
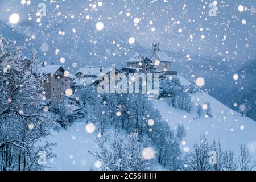
[[[185,78],[177,77],[181,84],[191,84]],[[221,139],[225,150],[230,148],[236,153],[238,146],[245,143],[250,154],[254,158],[256,157],[255,121],[243,117],[203,91],[192,94],[191,98],[194,104],[203,105],[205,102],[209,102],[212,106],[212,117],[203,116],[200,119],[195,119],[196,110],[187,113],[184,110],[171,107],[168,105],[168,98],[152,101],[155,109],[160,111],[171,129],[176,129],[178,123],[183,123],[186,127],[187,136],[184,138],[183,152],[191,152],[193,143],[199,140],[200,134],[204,134],[210,141]],[[57,146],[53,147],[57,158],[50,164],[50,170],[98,169],[94,166],[96,159],[88,153],[88,150],[97,151],[97,132],[86,133],[85,126],[85,121],[73,123],[67,130],[55,131],[52,136],[46,138],[48,142],[57,143]]]

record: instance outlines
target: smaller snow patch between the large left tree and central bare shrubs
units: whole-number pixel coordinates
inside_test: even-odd
[[[49,170],[90,170],[96,169],[96,159],[88,153],[96,151],[97,133],[89,134],[85,131],[85,122],[73,123],[67,130],[55,131],[46,138],[48,142],[56,143],[53,152],[57,157],[49,164]]]

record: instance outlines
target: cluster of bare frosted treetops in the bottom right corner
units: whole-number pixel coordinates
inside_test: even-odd
[[[238,157],[234,150],[224,151],[220,140],[208,139],[201,135],[200,142],[193,144],[194,151],[185,155],[185,170],[189,171],[251,171],[256,167],[245,144],[240,144]]]

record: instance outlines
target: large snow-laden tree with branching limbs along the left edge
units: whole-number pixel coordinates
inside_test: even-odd
[[[48,135],[54,122],[44,111],[36,52],[27,60],[16,42],[0,40],[0,170],[40,170],[46,166],[38,162],[39,152],[45,152],[46,160],[54,155],[52,144],[38,146],[38,141]]]

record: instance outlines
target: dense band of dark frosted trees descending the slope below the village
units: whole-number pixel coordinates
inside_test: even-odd
[[[97,90],[92,86],[77,90],[76,94],[80,97],[81,107],[90,113],[87,115],[88,121],[97,125],[102,136],[109,128],[117,131],[125,130],[128,134],[135,131],[143,145],[151,145],[158,149],[157,156],[160,164],[170,170],[180,169],[182,166],[179,158],[180,140],[176,137],[176,131],[170,130],[168,123],[162,119],[159,111],[152,107],[146,95],[98,95]],[[122,114],[118,116],[117,112]],[[150,119],[154,121],[153,126],[148,125]],[[104,150],[103,144],[99,146]],[[101,157],[97,155],[97,158]]]

